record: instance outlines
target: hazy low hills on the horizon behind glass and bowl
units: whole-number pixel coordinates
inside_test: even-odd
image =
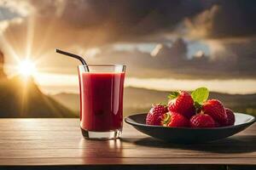
[[[160,102],[165,104],[168,94],[169,92],[145,88],[125,88],[124,115],[147,112],[152,104]],[[79,113],[79,94],[55,94],[52,98],[77,114]],[[211,93],[209,98],[223,101],[226,107],[230,107],[236,112],[256,115],[256,94]]]

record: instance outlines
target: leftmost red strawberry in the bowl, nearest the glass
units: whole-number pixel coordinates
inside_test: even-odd
[[[168,112],[166,105],[152,105],[152,108],[149,110],[146,118],[146,124],[160,125],[161,116],[164,115],[166,112]]]

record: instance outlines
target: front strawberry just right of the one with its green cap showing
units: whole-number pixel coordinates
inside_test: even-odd
[[[215,127],[215,122],[211,116],[199,113],[189,120],[190,127]]]

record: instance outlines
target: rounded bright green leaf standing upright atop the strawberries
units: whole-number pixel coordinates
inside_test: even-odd
[[[196,88],[191,94],[194,103],[202,105],[209,97],[209,90],[207,88]]]

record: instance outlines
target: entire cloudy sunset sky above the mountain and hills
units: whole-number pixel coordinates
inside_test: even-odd
[[[45,93],[60,77],[63,91],[78,87],[79,63],[55,54],[61,48],[90,64],[127,65],[126,86],[251,94],[255,13],[249,0],[0,0],[0,49],[9,77],[32,60]]]

